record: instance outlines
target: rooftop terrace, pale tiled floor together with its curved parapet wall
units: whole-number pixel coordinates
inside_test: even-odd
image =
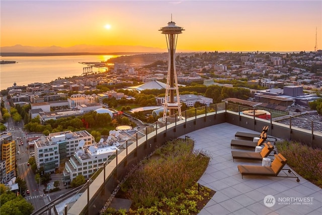
[[[147,135],[138,138],[136,143],[120,152],[117,159],[108,163],[93,182],[84,186],[81,191],[84,192],[83,195],[70,208],[68,206],[67,214],[86,214],[87,210],[89,214],[97,214],[105,204],[105,201],[102,204],[102,199],[110,198],[114,188],[132,165],[167,140],[186,136],[195,140],[195,149],[206,150],[212,156],[199,183],[216,193],[199,214],[321,214],[322,189],[299,175],[300,182],[296,182],[296,178],[264,176],[244,176],[242,179],[237,165],[261,166],[262,163],[237,159],[233,162],[231,151],[240,149],[230,149],[230,141],[234,139],[236,131],[259,133],[264,125],[269,125],[270,136],[297,141],[300,139],[309,146],[319,148],[322,142],[321,133],[315,131],[313,124],[311,130],[308,130],[292,126],[291,123],[285,125],[272,119],[240,115],[240,111],[245,109],[239,105],[221,103],[184,112],[185,119],[172,124],[156,122],[157,126],[149,125],[146,127]],[[275,197],[274,206],[265,206],[264,198],[267,195]],[[303,202],[302,197],[311,201]]]

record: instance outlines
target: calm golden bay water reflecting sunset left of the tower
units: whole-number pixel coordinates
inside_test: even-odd
[[[0,64],[0,90],[32,83],[49,83],[59,78],[82,76],[86,64],[79,62],[101,62],[120,55],[73,55],[73,56],[10,56],[0,60],[17,63]],[[93,67],[93,71],[98,71]]]

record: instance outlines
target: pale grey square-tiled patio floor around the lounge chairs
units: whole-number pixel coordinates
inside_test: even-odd
[[[215,195],[199,212],[206,214],[322,214],[322,189],[297,175],[296,178],[244,176],[238,172],[237,165],[262,165],[261,161],[232,161],[230,140],[237,131],[252,130],[222,123],[186,134],[195,140],[195,149],[211,154],[212,159],[199,183],[216,191]],[[185,136],[182,136],[185,138]],[[289,168],[287,165],[284,168]],[[283,175],[283,173],[280,173]],[[264,198],[272,195],[273,206],[265,206]],[[287,198],[289,197],[289,198]],[[300,197],[307,197],[306,202]],[[292,199],[293,198],[293,199]],[[294,198],[297,198],[294,200]],[[272,198],[269,198],[272,200]],[[308,202],[309,201],[309,202]]]

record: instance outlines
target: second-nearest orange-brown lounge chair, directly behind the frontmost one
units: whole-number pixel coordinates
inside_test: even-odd
[[[260,160],[269,156],[273,151],[274,146],[270,142],[264,142],[264,148],[261,152],[243,152],[243,151],[231,151],[232,161],[234,159],[247,159],[247,160]]]

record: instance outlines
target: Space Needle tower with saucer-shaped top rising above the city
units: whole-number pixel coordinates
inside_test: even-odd
[[[166,97],[165,102],[162,104],[164,107],[164,113],[162,122],[166,122],[167,112],[169,110],[169,116],[174,116],[176,110],[178,112],[177,117],[182,119],[181,115],[181,106],[179,98],[179,88],[178,88],[178,79],[176,71],[176,46],[178,42],[178,34],[181,34],[184,29],[182,27],[176,26],[176,23],[172,21],[168,23],[168,26],[160,28],[159,31],[162,31],[162,34],[166,35],[168,52],[169,52],[169,65],[168,65],[168,76],[167,76],[167,85],[166,85]],[[175,96],[177,101],[175,102]]]

